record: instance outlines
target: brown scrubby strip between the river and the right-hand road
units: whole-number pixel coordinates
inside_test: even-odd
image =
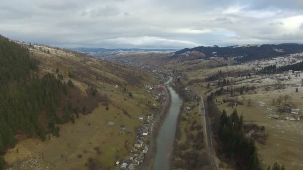
[[[200,97],[182,83],[175,85],[185,102],[178,116],[171,169],[210,170],[211,164],[205,142],[204,113],[201,112]],[[203,100],[202,100],[203,101]]]

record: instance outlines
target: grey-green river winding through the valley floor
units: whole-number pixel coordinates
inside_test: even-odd
[[[170,77],[166,84],[171,80],[172,77]],[[170,169],[171,152],[173,150],[177,119],[180,108],[183,104],[183,100],[172,87],[169,86],[167,89],[171,94],[171,106],[157,136],[157,149],[153,163],[153,170]]]

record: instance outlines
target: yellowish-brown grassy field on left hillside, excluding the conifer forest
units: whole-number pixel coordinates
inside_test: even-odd
[[[146,119],[153,103],[157,105],[155,109],[161,107],[153,99],[155,91],[145,88],[145,85],[158,85],[158,77],[140,68],[100,61],[63,49],[41,45],[29,49],[40,61],[42,75],[57,75],[58,68],[63,81],[72,80],[81,95],[86,96],[87,89],[95,86],[110,103],[108,110],[100,103],[92,113],[80,114],[75,124],[59,125],[60,137],[49,135],[45,142],[19,137],[22,140],[4,155],[9,169],[82,170],[92,164],[108,169],[114,167],[117,160],[126,159],[134,144],[135,127],[143,124],[138,117]],[[47,50],[50,54],[45,52]],[[69,77],[68,72],[73,77]],[[147,105],[148,101],[152,104]]]

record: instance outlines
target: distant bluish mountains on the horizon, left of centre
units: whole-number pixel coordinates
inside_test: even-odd
[[[165,52],[176,51],[177,49],[141,49],[141,48],[71,48],[71,50],[78,51],[93,57],[106,58],[117,54],[127,54],[136,52]]]

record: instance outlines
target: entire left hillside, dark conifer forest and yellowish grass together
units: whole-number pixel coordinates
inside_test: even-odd
[[[113,167],[144,123],[136,117],[161,107],[145,88],[159,77],[139,67],[4,37],[0,47],[1,108],[10,109],[0,112],[0,161],[12,170]]]

